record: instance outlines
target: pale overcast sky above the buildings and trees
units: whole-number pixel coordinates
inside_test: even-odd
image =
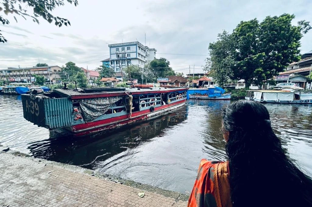
[[[165,57],[177,72],[202,71],[209,42],[216,41],[223,29],[232,31],[244,20],[266,16],[295,14],[312,22],[311,0],[78,0],[77,7],[66,2],[52,13],[70,20],[61,28],[43,19],[40,25],[8,16],[10,25],[0,25],[8,42],[0,43],[0,68],[31,67],[40,61],[65,65],[73,61],[80,67],[95,69],[109,57],[108,44],[140,41],[157,49],[157,58]],[[31,10],[31,9],[29,9]],[[3,14],[3,12],[1,12]],[[301,39],[301,52],[312,50],[312,31]],[[188,54],[188,55],[168,55]],[[206,55],[206,56],[205,56]],[[193,72],[193,70],[192,70]]]

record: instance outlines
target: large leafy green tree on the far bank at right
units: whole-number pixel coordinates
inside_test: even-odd
[[[228,78],[245,79],[246,88],[261,85],[300,60],[300,39],[311,29],[309,22],[292,25],[295,15],[268,16],[240,22],[232,34],[223,32],[209,44],[208,69],[219,84]],[[224,75],[220,75],[222,73]]]

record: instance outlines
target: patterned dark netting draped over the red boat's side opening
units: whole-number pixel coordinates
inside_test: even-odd
[[[83,119],[85,122],[93,121],[105,114],[120,99],[122,99],[122,96],[79,100]]]

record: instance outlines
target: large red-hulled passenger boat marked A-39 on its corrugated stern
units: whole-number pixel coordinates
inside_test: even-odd
[[[54,89],[41,94],[23,94],[24,118],[39,127],[66,130],[80,136],[119,128],[162,115],[183,106],[188,88],[86,88]],[[129,96],[132,93],[132,115]]]

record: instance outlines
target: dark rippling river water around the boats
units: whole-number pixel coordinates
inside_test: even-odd
[[[228,104],[189,100],[167,115],[115,132],[61,137],[26,121],[20,96],[0,95],[0,142],[34,157],[188,193],[202,158],[226,159],[220,127]],[[312,172],[312,106],[265,106],[287,154],[303,171]]]

